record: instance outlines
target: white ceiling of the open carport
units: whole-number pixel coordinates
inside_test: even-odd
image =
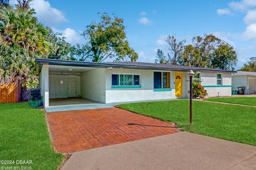
[[[52,73],[83,73],[95,69],[93,67],[49,65],[49,72]]]

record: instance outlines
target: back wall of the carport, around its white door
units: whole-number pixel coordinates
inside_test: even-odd
[[[50,99],[68,97],[68,78],[76,79],[76,97],[81,95],[80,74],[49,73]]]

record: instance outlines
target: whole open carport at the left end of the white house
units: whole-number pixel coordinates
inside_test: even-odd
[[[95,82],[104,82],[104,68],[37,63],[37,73],[45,108],[105,103],[104,83]]]

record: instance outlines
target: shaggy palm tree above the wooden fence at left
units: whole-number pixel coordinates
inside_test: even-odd
[[[47,35],[33,11],[0,8],[0,83],[25,82],[34,75],[35,57],[49,51]]]

